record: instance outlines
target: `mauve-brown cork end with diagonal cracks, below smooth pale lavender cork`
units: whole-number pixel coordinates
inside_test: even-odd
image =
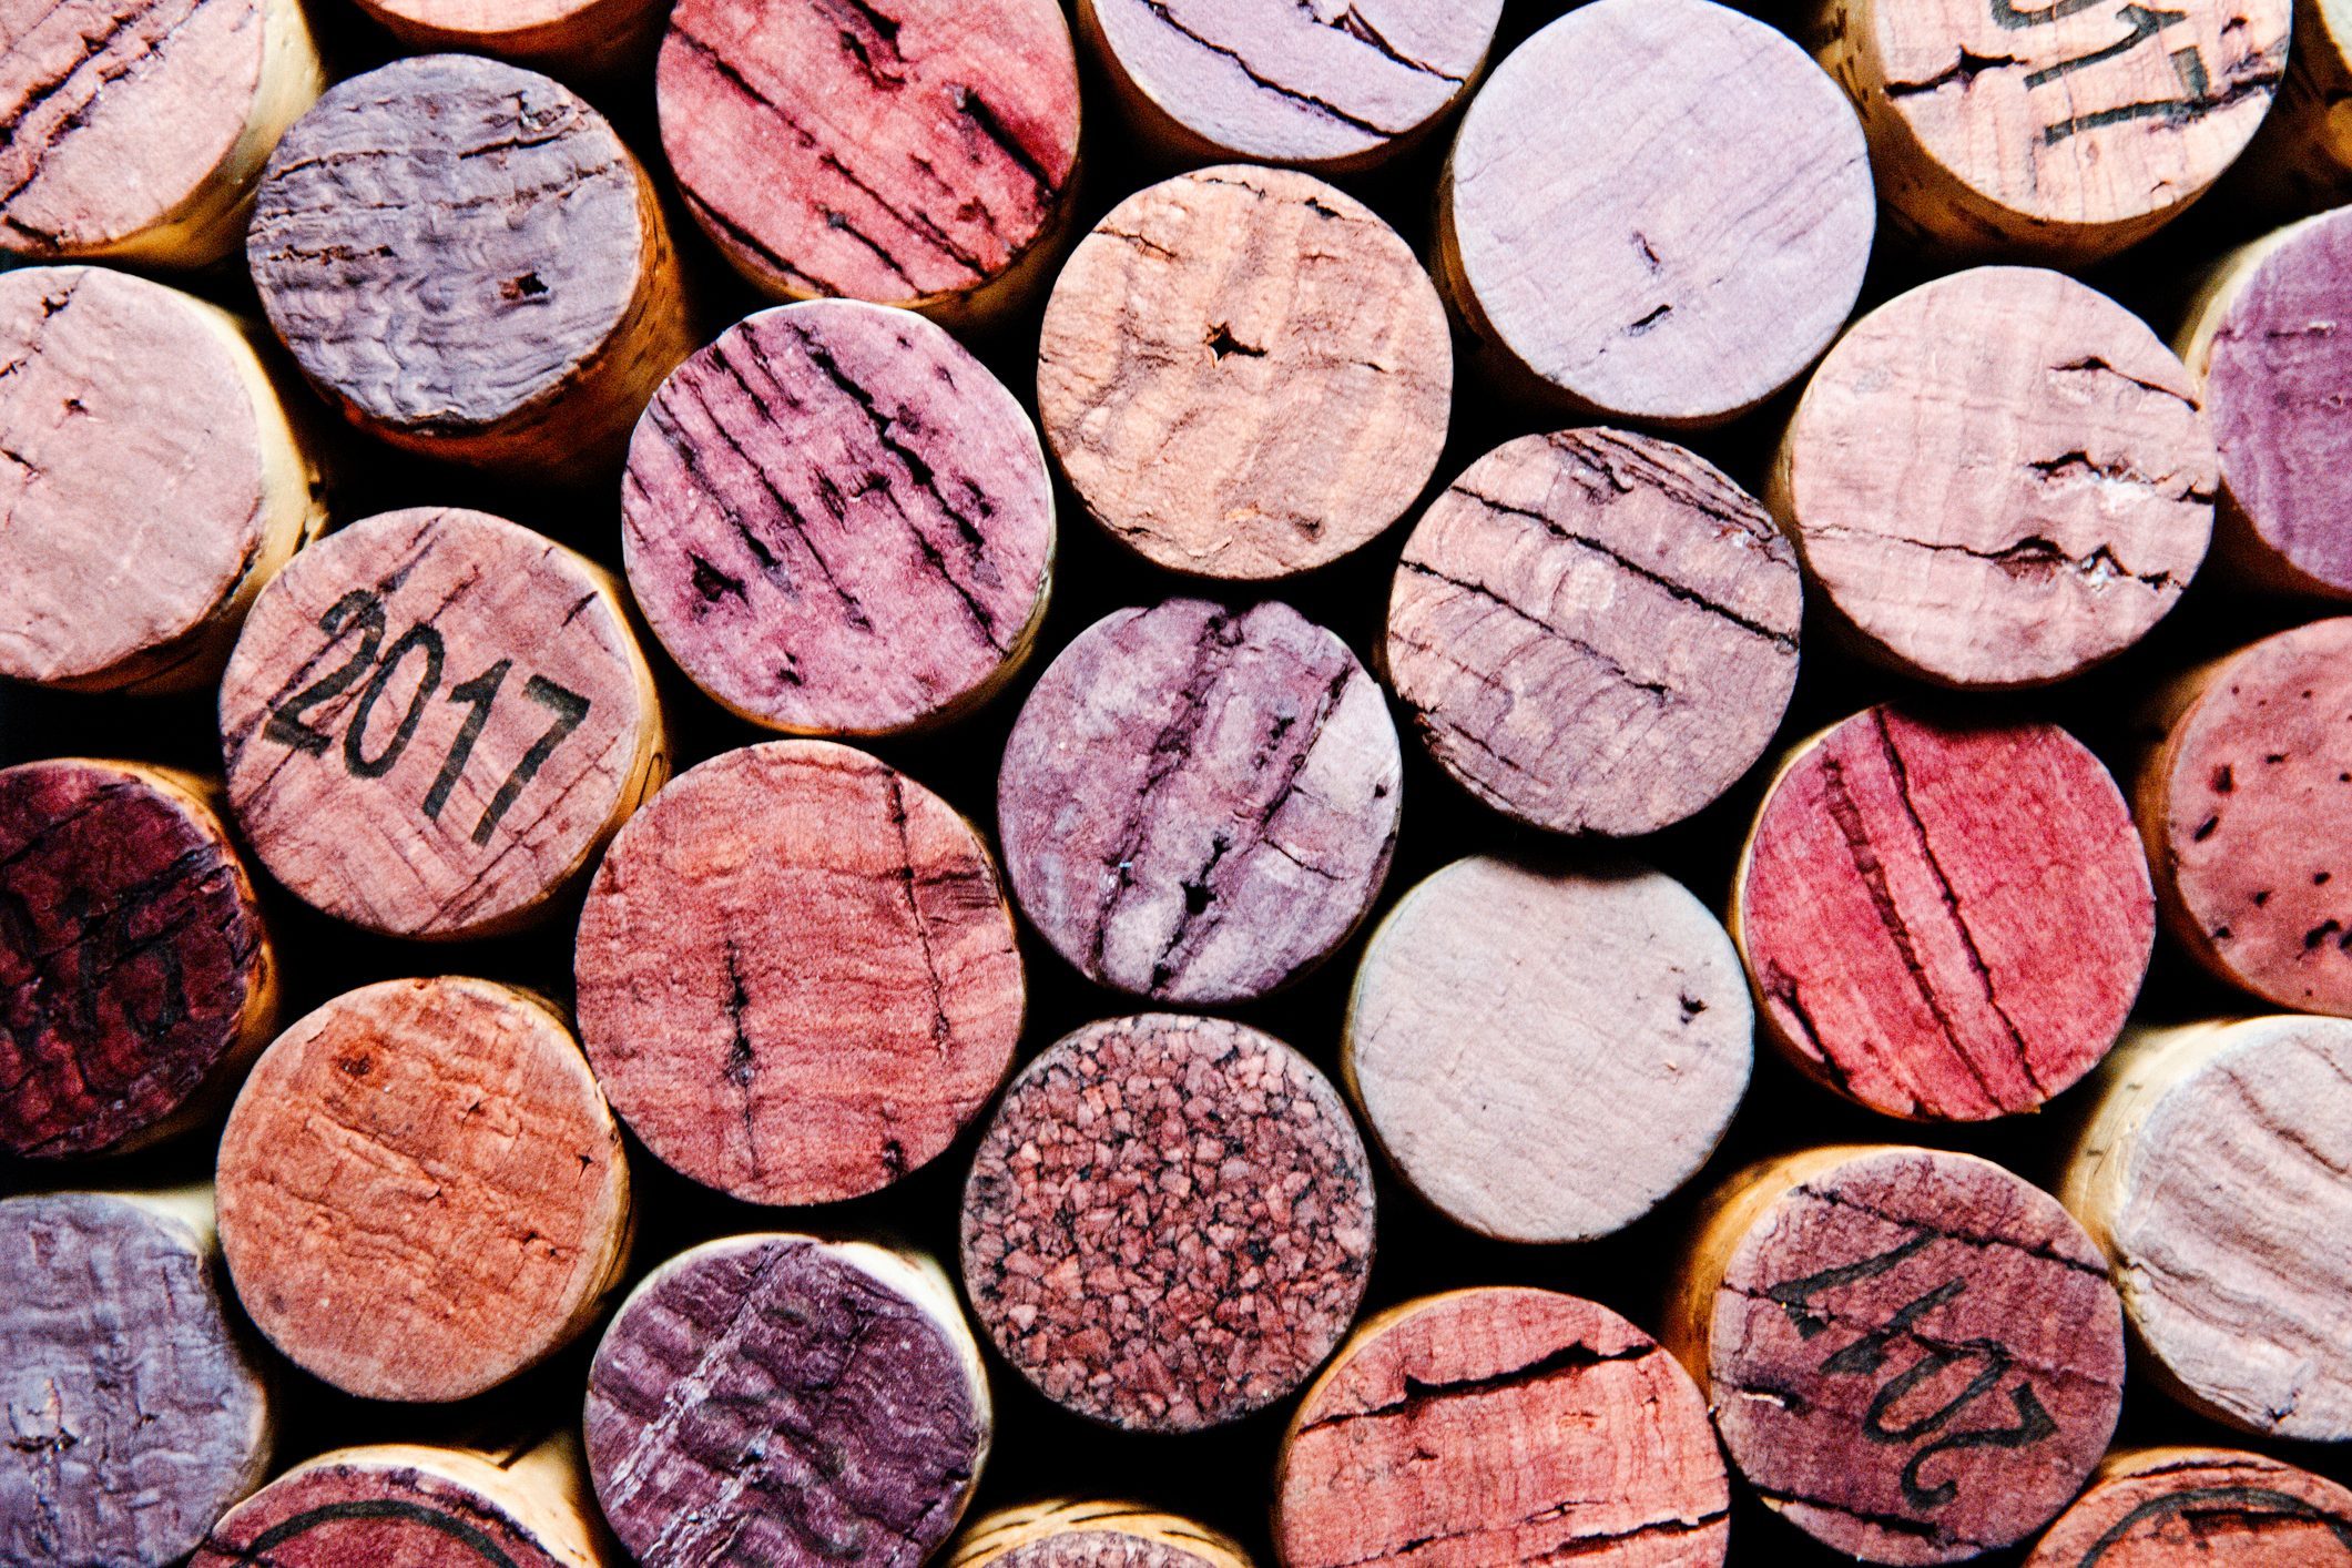
[[[1764,755],[1802,618],[1797,552],[1715,465],[1618,430],[1524,435],[1404,543],[1388,677],[1489,806],[1632,837]]]

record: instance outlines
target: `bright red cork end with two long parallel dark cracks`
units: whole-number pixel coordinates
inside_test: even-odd
[[[2027,1112],[2096,1067],[2154,933],[2124,795],[2056,724],[1863,710],[1780,769],[1731,886],[1773,1044],[1919,1121]]]

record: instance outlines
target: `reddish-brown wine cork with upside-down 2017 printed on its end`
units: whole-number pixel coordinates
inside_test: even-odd
[[[1936,1150],[1736,1175],[1661,1338],[1764,1505],[1870,1563],[1957,1563],[2046,1526],[2107,1450],[2124,1382],[2122,1309],[2082,1227]]]

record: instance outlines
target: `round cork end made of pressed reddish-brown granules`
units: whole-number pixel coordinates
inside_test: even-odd
[[[1047,1399],[1197,1432],[1291,1394],[1355,1319],[1371,1168],[1270,1034],[1148,1013],[1014,1079],[964,1187],[964,1291]]]

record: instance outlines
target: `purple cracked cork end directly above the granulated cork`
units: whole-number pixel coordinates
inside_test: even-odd
[[[1004,743],[1004,867],[1087,978],[1247,1001],[1371,907],[1402,771],[1381,689],[1291,607],[1122,609],[1061,651]]]

